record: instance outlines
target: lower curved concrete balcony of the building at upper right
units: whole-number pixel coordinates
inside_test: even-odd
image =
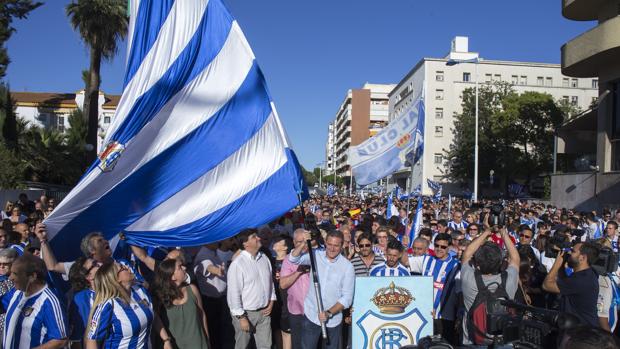
[[[580,78],[599,76],[620,55],[620,16],[609,19],[562,46],[562,74]]]

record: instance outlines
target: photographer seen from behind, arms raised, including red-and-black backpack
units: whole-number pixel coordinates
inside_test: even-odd
[[[490,230],[482,233],[463,253],[461,288],[466,313],[463,318],[465,345],[489,344],[492,327],[498,324],[489,321],[488,315],[497,309],[499,299],[513,299],[517,292],[519,252],[506,229],[500,229],[499,234],[508,251],[508,267],[502,270],[502,250],[497,244],[487,242],[491,234]]]

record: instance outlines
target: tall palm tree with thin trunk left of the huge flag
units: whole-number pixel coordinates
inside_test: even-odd
[[[93,149],[87,159],[97,156],[97,128],[99,126],[99,85],[101,60],[116,55],[118,41],[127,35],[127,0],[73,0],[66,7],[71,25],[80,33],[90,49],[89,78],[84,96],[84,115],[88,118],[88,144]]]

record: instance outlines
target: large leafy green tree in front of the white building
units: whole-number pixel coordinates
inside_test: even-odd
[[[467,182],[474,172],[474,91],[463,92],[463,112],[456,115],[454,140],[447,152],[449,177]],[[501,188],[550,169],[553,132],[566,110],[548,94],[517,94],[507,83],[483,85],[479,102],[479,178],[495,171]]]

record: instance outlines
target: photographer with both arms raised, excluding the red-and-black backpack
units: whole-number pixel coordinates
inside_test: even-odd
[[[465,252],[461,267],[461,288],[465,312],[469,313],[471,306],[478,295],[476,275],[482,275],[482,282],[491,291],[495,291],[502,284],[502,250],[492,242],[487,242],[491,231],[486,230],[478,238],[473,240]],[[519,252],[515,248],[505,228],[500,230],[504,246],[508,251],[508,267],[505,270],[505,291],[514,299],[519,280],[519,266],[521,263]],[[473,262],[473,263],[472,263]],[[471,345],[467,325],[467,316],[463,318],[463,344]]]

